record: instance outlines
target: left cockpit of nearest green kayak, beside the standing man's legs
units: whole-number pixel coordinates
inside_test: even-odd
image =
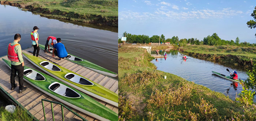
[[[37,71],[34,71],[32,69],[25,69],[24,75],[35,81],[45,81],[45,77],[41,75],[41,73],[38,73]]]

